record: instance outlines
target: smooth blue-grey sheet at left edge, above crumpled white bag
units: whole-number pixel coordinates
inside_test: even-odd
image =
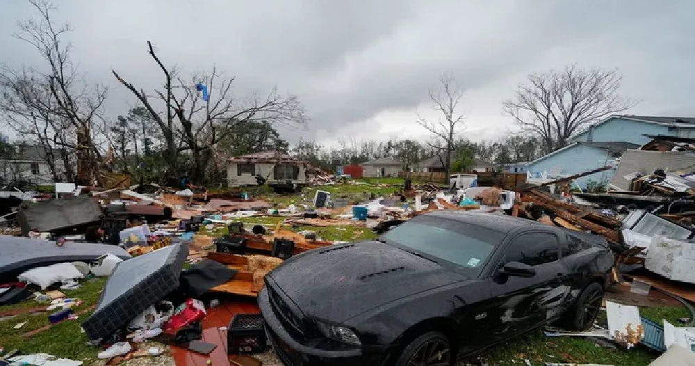
[[[72,241],[57,246],[55,241],[0,235],[0,279],[15,278],[19,273],[37,266],[88,262],[106,253],[124,260],[131,257],[120,246]]]

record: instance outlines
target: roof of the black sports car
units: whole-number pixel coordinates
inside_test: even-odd
[[[549,228],[548,225],[544,225],[533,220],[528,220],[526,218],[499,214],[487,214],[484,212],[466,212],[463,210],[440,209],[437,211],[427,212],[427,214],[423,216],[446,218],[452,221],[459,221],[461,223],[467,223],[498,232],[504,232],[505,234],[514,229],[528,226],[533,226],[534,228]]]

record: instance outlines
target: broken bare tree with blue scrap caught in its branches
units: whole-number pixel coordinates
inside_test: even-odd
[[[234,134],[236,127],[245,122],[266,121],[288,127],[306,124],[304,107],[294,95],[279,95],[273,88],[266,95],[253,94],[238,100],[232,88],[233,77],[224,79],[213,67],[208,75],[194,74],[190,81],[183,81],[164,66],[151,42],[147,42],[147,47],[165,75],[163,90],[155,90],[157,99],[164,104],[165,118],[157,113],[144,90],[124,81],[115,70],[113,74],[138,97],[161,128],[170,175],[177,174],[179,153],[187,152],[193,159],[193,179],[204,180],[205,169],[215,155],[215,144]],[[196,89],[198,84],[206,86],[206,100]]]

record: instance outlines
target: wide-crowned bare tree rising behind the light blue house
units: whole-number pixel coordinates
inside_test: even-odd
[[[524,132],[539,136],[546,152],[552,152],[592,121],[637,104],[619,94],[622,80],[617,69],[570,65],[562,71],[530,74],[514,98],[502,104]]]

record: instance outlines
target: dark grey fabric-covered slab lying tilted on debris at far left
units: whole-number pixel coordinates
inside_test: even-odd
[[[19,210],[17,223],[22,227],[22,234],[31,230],[39,232],[56,232],[101,220],[101,206],[91,196],[76,196],[48,200],[29,205]]]

